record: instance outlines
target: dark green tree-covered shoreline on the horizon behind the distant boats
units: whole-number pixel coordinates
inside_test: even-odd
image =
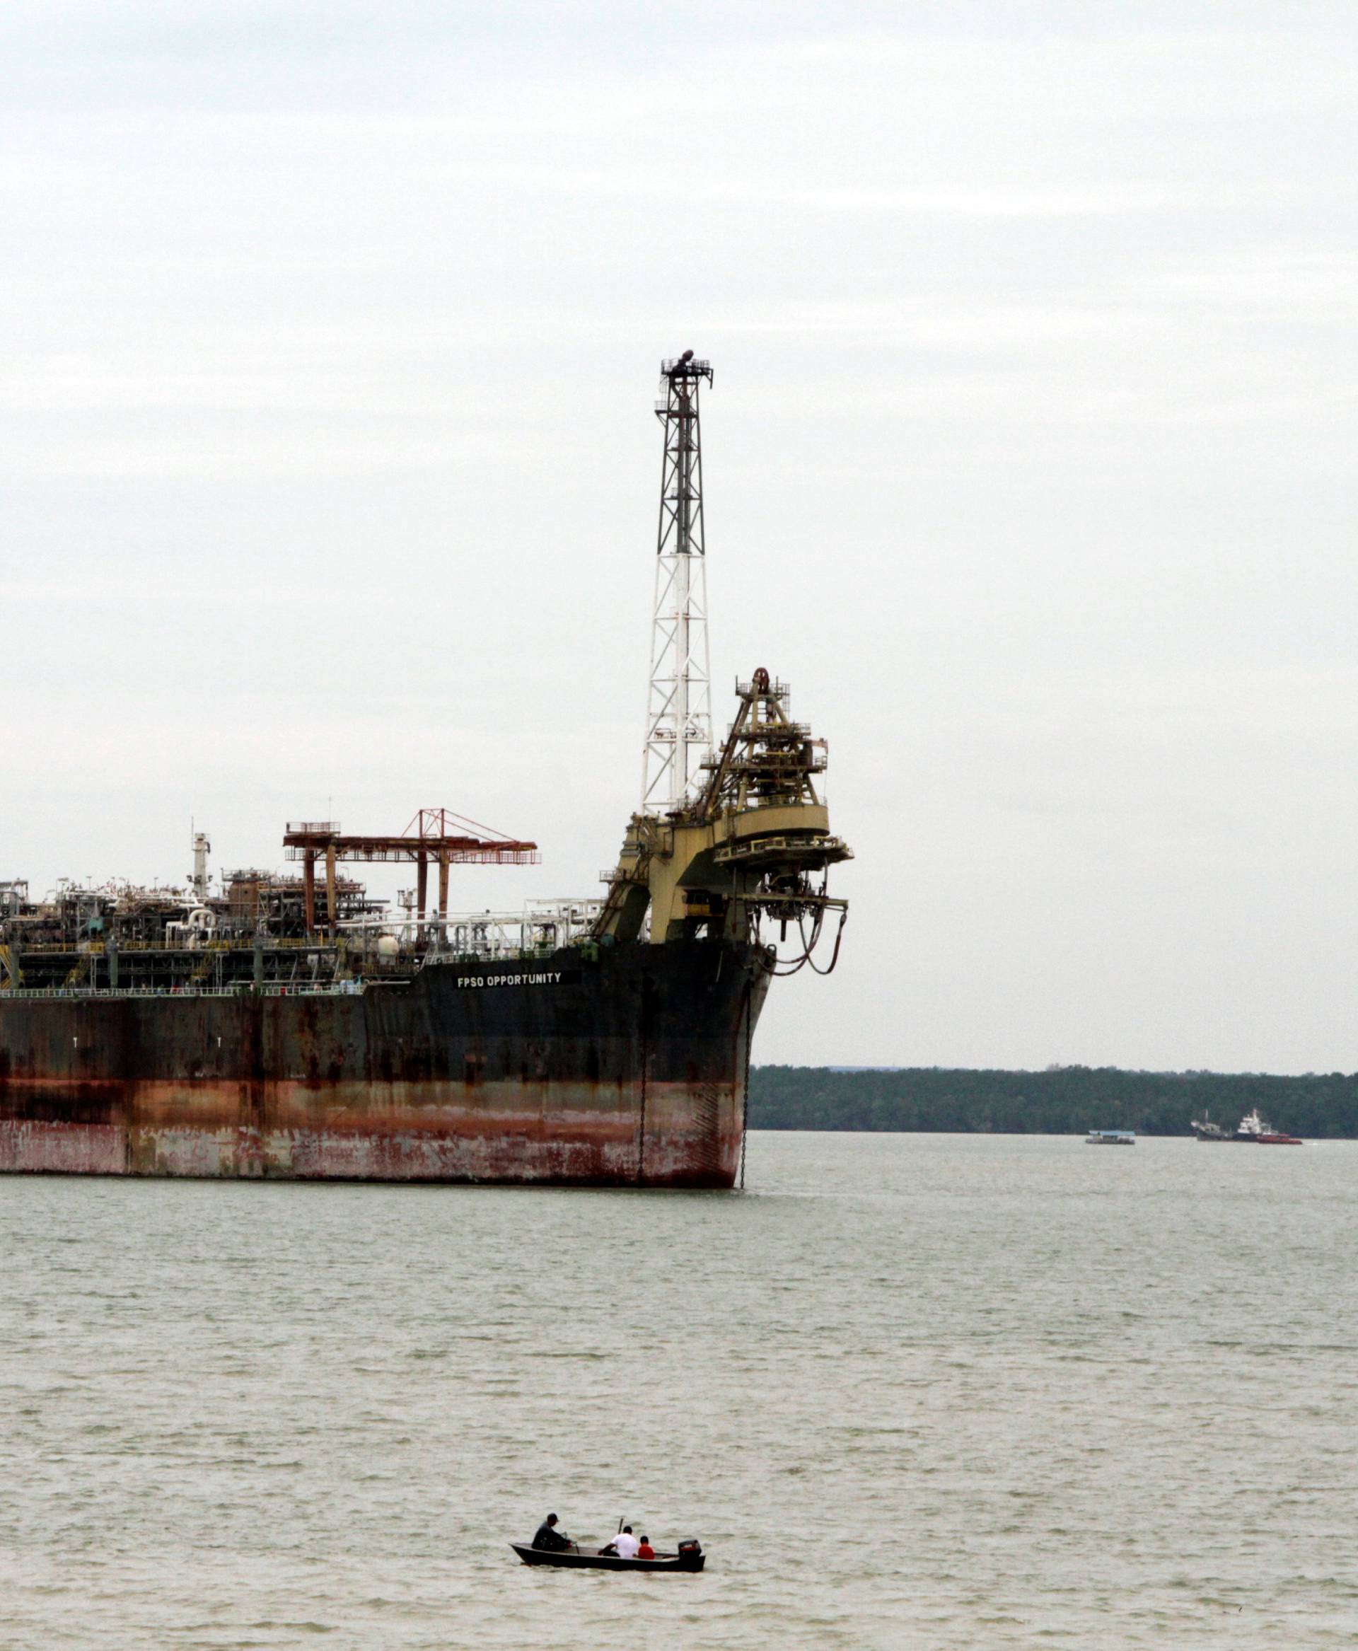
[[[1358,1073],[754,1067],[749,1075],[752,1129],[1185,1136],[1205,1111],[1234,1128],[1252,1106],[1290,1134],[1358,1138]]]

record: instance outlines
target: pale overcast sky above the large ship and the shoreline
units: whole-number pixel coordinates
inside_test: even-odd
[[[635,806],[662,355],[716,712],[853,911],[762,1062],[1358,1068],[1358,8],[7,0],[0,878]],[[394,887],[394,883],[393,883]]]

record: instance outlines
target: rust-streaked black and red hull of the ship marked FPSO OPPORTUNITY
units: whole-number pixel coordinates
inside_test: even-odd
[[[0,997],[0,1171],[731,1187],[766,953]]]

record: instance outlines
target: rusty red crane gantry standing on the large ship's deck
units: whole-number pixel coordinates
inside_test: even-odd
[[[479,835],[474,835],[479,834]],[[429,892],[429,862],[439,867],[439,916],[447,916],[447,868],[459,865],[536,865],[535,842],[516,842],[449,809],[421,809],[399,837],[343,837],[337,821],[289,821],[289,860],[302,862],[307,933],[315,933],[315,862],[325,859],[325,910],[335,928],[335,865],[340,860],[414,860],[419,916]]]

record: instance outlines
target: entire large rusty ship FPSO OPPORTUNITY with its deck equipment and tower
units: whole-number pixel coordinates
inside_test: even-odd
[[[300,877],[213,887],[200,834],[185,892],[63,883],[31,901],[0,883],[0,1169],[736,1184],[769,981],[815,966],[827,916],[842,930],[827,873],[850,852],[815,789],[823,741],[790,720],[784,684],[738,684],[723,746],[705,741],[690,575],[711,370],[690,353],[663,373],[647,750],[670,773],[652,774],[604,898],[450,916],[450,863],[536,854],[446,811],[396,837],[289,826]],[[413,863],[417,895],[393,915],[340,870],[351,860]]]

